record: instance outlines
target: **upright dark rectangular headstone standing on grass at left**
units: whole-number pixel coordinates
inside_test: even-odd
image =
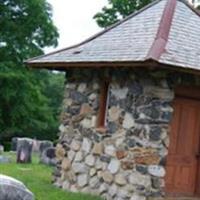
[[[17,142],[17,163],[30,163],[32,156],[33,142],[30,139],[22,138]]]

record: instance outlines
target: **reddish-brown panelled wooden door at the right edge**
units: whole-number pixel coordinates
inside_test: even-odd
[[[167,158],[166,193],[194,196],[198,192],[200,101],[176,98]]]

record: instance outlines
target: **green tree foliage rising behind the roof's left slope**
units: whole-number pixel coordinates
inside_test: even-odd
[[[94,16],[94,19],[100,27],[106,28],[150,2],[152,0],[108,0],[108,6],[103,7],[102,11]]]

